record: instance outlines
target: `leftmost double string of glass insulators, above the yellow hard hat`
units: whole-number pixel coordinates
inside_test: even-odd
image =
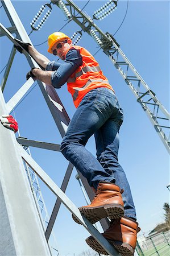
[[[47,8],[49,8],[49,10],[47,10],[47,12],[43,14],[44,10]],[[51,14],[51,10],[52,10],[52,7],[50,3],[45,3],[45,5],[42,5],[38,13],[35,15],[35,18],[32,19],[32,22],[30,23],[32,30],[40,30],[42,26],[44,26],[45,21],[48,19],[49,15]],[[42,15],[44,16],[42,17]],[[41,20],[39,22],[38,19],[40,18]],[[39,22],[39,24],[36,24],[37,22]]]

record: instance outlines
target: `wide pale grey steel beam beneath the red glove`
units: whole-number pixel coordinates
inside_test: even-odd
[[[0,115],[2,114],[8,112],[0,89]],[[0,134],[1,254],[51,255],[14,132],[0,124]]]

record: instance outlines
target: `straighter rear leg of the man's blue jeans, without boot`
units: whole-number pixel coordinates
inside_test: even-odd
[[[115,177],[115,184],[123,189],[125,216],[136,220],[134,202],[125,172],[118,162],[119,119],[111,117],[95,133],[97,159],[107,173]],[[121,114],[120,114],[121,115]]]

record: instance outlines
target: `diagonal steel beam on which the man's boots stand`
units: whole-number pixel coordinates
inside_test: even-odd
[[[47,187],[61,200],[61,202],[67,207],[67,209],[76,216],[77,220],[80,221],[82,226],[92,234],[92,236],[97,240],[97,242],[107,251],[111,256],[118,256],[119,254],[114,249],[113,246],[94,228],[92,223],[88,221],[84,216],[81,216],[80,211],[72,203],[72,201],[65,195],[63,191],[53,182],[53,180],[43,171],[43,169],[31,158],[27,152],[20,147],[20,154],[23,160],[30,166],[35,173],[40,177],[40,179],[47,185]]]

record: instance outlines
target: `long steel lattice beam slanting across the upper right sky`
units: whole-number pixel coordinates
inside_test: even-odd
[[[61,0],[51,1],[54,5],[61,8]],[[154,126],[157,135],[164,143],[168,152],[170,149],[170,115],[164,108],[155,93],[150,89],[147,83],[136,71],[135,67],[127,59],[119,44],[109,32],[104,33],[95,23],[94,18],[85,14],[81,9],[71,0],[65,1],[67,7],[67,18],[74,20],[81,27],[82,31],[87,32],[103,52],[109,57],[115,68],[119,71],[128,87],[134,93],[137,101],[142,106],[142,109],[147,114],[152,125]]]

